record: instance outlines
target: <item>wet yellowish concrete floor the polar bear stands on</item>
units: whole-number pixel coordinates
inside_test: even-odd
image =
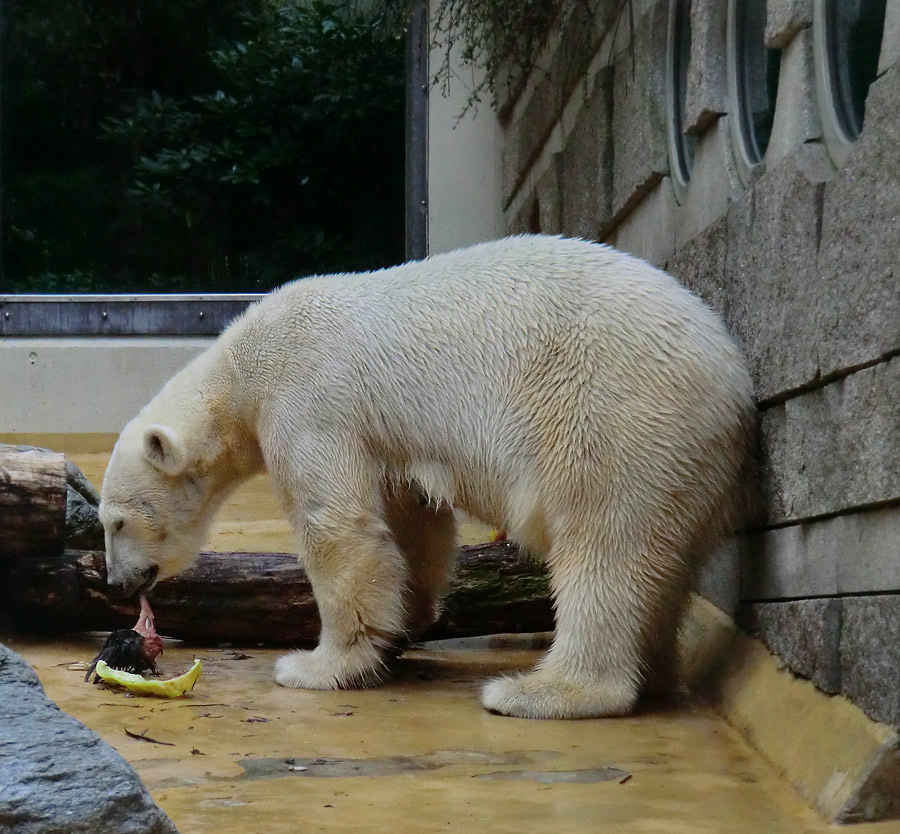
[[[159,700],[83,682],[99,637],[5,642],[132,763],[182,834],[834,828],[700,704],[576,722],[485,712],[479,682],[536,651],[417,649],[381,688],[322,693],[276,686],[277,651],[169,645],[166,677],[194,656],[204,672],[189,695]],[[900,834],[900,823],[850,830]]]

